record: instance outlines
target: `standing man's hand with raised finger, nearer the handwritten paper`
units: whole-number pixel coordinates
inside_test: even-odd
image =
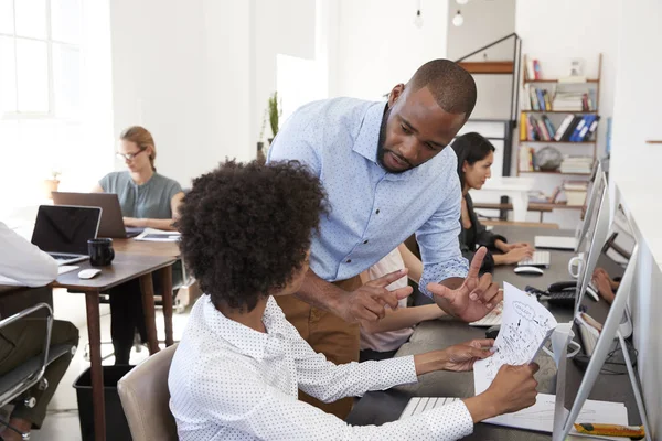
[[[460,288],[453,290],[440,283],[427,286],[439,308],[468,323],[484,318],[503,300],[503,293],[499,291],[496,283],[492,282],[492,275],[485,273],[479,278],[480,267],[487,252],[485,247],[480,247],[476,251],[469,273]]]

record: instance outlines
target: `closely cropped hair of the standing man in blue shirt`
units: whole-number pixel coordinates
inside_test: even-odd
[[[450,60],[433,60],[420,66],[409,83],[413,92],[427,87],[439,107],[449,114],[465,114],[476,106],[476,82],[471,74]]]

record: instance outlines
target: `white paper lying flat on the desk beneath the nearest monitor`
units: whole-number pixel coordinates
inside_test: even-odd
[[[536,402],[532,407],[514,413],[500,415],[499,417],[490,418],[483,422],[552,433],[555,401],[556,397],[554,395],[538,394]],[[586,400],[577,417],[577,422],[608,422],[628,426],[628,410],[622,402]],[[583,437],[574,429],[570,434]],[[600,438],[619,440],[619,438],[612,437]]]

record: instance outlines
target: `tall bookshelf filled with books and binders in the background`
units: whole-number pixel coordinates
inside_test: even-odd
[[[533,62],[523,55],[520,121],[515,137],[519,140],[516,175],[547,176],[544,181],[546,184],[557,180],[558,186],[552,192],[557,200],[558,189],[577,192],[577,185],[581,186],[590,178],[598,159],[602,54],[598,55],[598,75],[590,78],[545,77],[545,61]],[[537,166],[535,154],[545,147],[554,147],[560,152],[564,158],[562,166],[556,170],[541,170]],[[536,182],[536,189],[542,186]],[[547,203],[531,201],[530,205],[547,209],[581,208],[556,200]]]

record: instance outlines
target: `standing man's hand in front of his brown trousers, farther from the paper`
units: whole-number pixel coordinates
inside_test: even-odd
[[[406,268],[371,280],[357,290],[348,293],[338,311],[340,318],[350,323],[375,322],[384,319],[385,305],[396,310],[398,301],[413,292],[412,287],[398,288],[393,291],[386,289],[391,283],[405,276],[407,276]]]

